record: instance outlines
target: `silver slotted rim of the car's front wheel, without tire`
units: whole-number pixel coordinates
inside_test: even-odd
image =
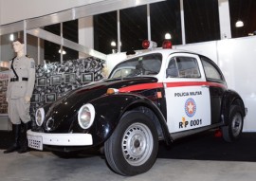
[[[153,136],[150,129],[142,123],[129,126],[122,137],[122,154],[133,166],[145,163],[153,151]]]

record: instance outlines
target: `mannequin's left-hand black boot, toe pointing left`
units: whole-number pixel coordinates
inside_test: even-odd
[[[20,132],[21,132],[21,125],[20,124],[12,124],[12,131],[11,134],[14,136],[14,143],[11,145],[4,154],[9,154],[20,149]]]

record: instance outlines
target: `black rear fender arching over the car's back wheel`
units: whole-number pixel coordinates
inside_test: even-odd
[[[236,91],[227,90],[224,94],[222,101],[223,101],[222,102],[222,118],[225,125],[229,123],[229,111],[230,111],[231,105],[241,106],[243,110],[243,117],[246,117],[245,103]]]

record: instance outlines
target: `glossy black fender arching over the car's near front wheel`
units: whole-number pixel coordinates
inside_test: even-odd
[[[168,143],[171,142],[166,120],[151,100],[134,94],[117,94],[106,95],[90,103],[94,105],[96,111],[95,121],[90,128],[95,146],[103,144],[113,134],[125,112],[139,106],[146,106],[155,113],[165,139]]]

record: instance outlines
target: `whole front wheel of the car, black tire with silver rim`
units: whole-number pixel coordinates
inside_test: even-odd
[[[158,153],[154,122],[143,113],[127,113],[104,143],[104,152],[114,172],[129,176],[147,172],[154,165]]]

